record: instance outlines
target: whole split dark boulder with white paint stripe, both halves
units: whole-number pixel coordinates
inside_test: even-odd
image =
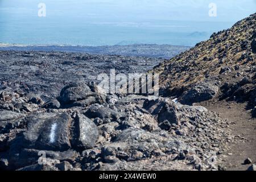
[[[22,148],[46,151],[67,151],[92,148],[98,139],[98,128],[85,115],[72,119],[68,113],[34,114],[26,118],[27,130],[11,144],[11,152]]]

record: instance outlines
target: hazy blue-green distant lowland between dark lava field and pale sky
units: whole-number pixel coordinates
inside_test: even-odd
[[[183,25],[177,25],[181,24]],[[90,24],[73,20],[55,22],[24,19],[7,23],[0,18],[0,42],[29,45],[113,46],[127,44],[171,44],[194,46],[220,30],[220,23],[168,22],[133,24]],[[8,26],[6,26],[8,24]],[[68,24],[68,26],[67,26]],[[223,23],[228,28],[232,23]],[[202,28],[200,28],[202,27]],[[203,27],[207,27],[203,28]]]

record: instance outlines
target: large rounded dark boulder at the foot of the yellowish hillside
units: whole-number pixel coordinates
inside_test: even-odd
[[[209,82],[203,82],[183,93],[180,99],[181,104],[192,105],[196,102],[210,100],[217,96],[218,86]]]

